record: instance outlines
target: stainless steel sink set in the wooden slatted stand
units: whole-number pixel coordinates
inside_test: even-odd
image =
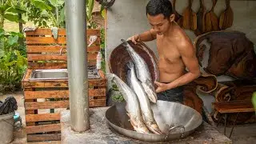
[[[88,79],[100,78],[97,70],[88,69]],[[67,69],[52,69],[52,70],[32,70],[30,80],[56,80],[68,79]]]

